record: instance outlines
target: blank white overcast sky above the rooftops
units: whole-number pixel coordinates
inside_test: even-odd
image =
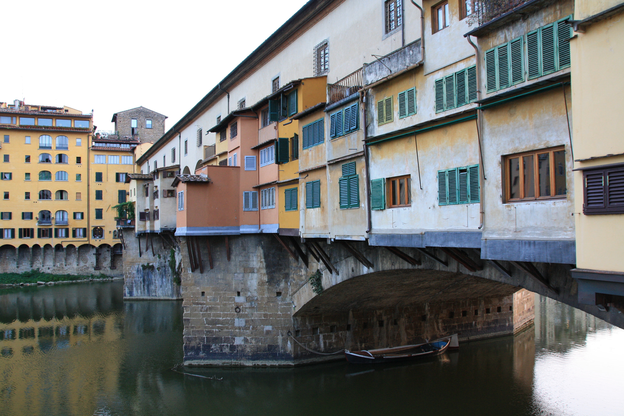
[[[305,2],[2,1],[0,101],[93,109],[99,130],[143,105],[168,129]]]

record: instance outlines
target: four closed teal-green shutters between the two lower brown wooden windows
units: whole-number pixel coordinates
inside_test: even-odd
[[[479,202],[479,165],[437,171],[438,205]]]

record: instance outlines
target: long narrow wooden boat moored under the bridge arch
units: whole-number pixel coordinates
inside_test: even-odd
[[[424,357],[432,357],[442,354],[447,349],[459,348],[457,334],[449,335],[436,341],[424,342],[409,346],[392,348],[379,348],[364,351],[344,351],[344,356],[348,362],[354,364],[379,364],[382,362],[397,362],[402,360],[413,360]]]

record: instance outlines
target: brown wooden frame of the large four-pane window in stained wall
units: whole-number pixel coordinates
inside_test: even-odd
[[[517,203],[517,202],[530,202],[530,201],[541,201],[541,200],[565,200],[567,198],[567,192],[568,192],[568,186],[569,184],[567,183],[566,180],[566,193],[564,195],[553,195],[553,193],[555,193],[555,177],[557,175],[554,175],[553,172],[555,172],[555,157],[554,157],[554,152],[560,152],[560,151],[564,151],[565,152],[565,145],[564,146],[556,146],[556,147],[548,147],[548,148],[544,148],[544,149],[540,149],[540,150],[531,150],[530,152],[522,152],[522,153],[514,153],[512,155],[505,155],[502,158],[502,165],[503,165],[503,175],[504,175],[504,183],[505,183],[505,192],[504,192],[504,203]],[[550,169],[550,196],[538,196],[539,195],[539,168],[538,168],[538,155],[544,154],[544,153],[548,153],[548,157],[549,157],[549,169]],[[534,175],[535,175],[535,196],[530,196],[530,197],[524,197],[524,163],[521,163],[522,161],[522,157],[525,156],[530,156],[533,155],[534,156]],[[565,153],[564,153],[565,155]],[[520,181],[518,183],[519,186],[519,190],[520,190],[520,198],[511,198],[510,197],[510,191],[511,191],[511,176],[510,176],[510,172],[509,172],[509,160],[511,159],[515,159],[518,158],[518,164],[520,167],[519,170],[519,178]],[[566,173],[567,176],[567,173]]]

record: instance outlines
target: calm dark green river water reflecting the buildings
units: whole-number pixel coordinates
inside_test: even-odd
[[[187,369],[182,303],[122,282],[0,291],[1,415],[624,415],[624,330],[545,297],[535,327],[418,364]]]

